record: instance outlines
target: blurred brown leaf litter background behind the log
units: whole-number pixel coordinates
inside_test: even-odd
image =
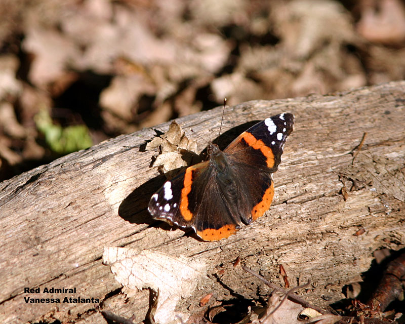
[[[0,0],[0,181],[221,105],[405,76],[401,0]]]

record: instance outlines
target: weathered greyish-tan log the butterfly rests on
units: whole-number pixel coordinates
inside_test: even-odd
[[[104,323],[98,312],[102,308],[143,320],[148,292],[129,300],[120,294],[120,285],[102,264],[104,246],[204,258],[211,265],[204,285],[179,305],[191,314],[204,309],[198,303],[209,293],[217,300],[269,293],[240,266],[233,267],[237,257],[280,285],[279,264],[292,286],[311,279],[311,289],[302,295],[313,304],[341,299],[342,287],[369,268],[374,250],[405,247],[405,82],[230,107],[222,128],[231,131],[220,137],[222,148],[247,128],[247,121],[285,111],[295,114],[295,126],[274,175],[272,207],[217,242],[199,241],[181,229],[170,231],[148,215],[148,200],[164,177],[149,167],[156,152],[142,147],[155,130],[167,131],[169,123],[2,182],[0,322]],[[217,136],[221,115],[222,108],[216,108],[177,122],[202,150]],[[353,149],[365,132],[352,164]],[[353,235],[359,228],[365,232]],[[37,287],[76,288],[74,297],[102,303],[26,303],[24,297],[65,296],[24,293],[24,288]]]

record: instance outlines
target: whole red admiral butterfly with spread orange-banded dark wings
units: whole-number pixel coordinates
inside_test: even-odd
[[[210,144],[207,161],[188,167],[152,195],[149,213],[191,227],[207,241],[234,234],[270,208],[272,173],[293,125],[294,115],[281,113],[252,126],[223,151]]]

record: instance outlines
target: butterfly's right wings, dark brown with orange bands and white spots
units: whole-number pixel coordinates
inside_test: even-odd
[[[287,137],[293,131],[294,115],[278,114],[240,134],[224,153],[236,179],[244,179],[244,200],[249,212],[242,221],[250,223],[266,212],[274,195],[272,173],[278,168]],[[244,197],[242,197],[244,198]]]

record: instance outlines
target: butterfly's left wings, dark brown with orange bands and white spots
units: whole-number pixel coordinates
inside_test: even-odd
[[[189,167],[167,181],[149,202],[154,219],[181,227],[191,227],[204,240],[219,240],[239,228],[215,177],[210,161]]]

